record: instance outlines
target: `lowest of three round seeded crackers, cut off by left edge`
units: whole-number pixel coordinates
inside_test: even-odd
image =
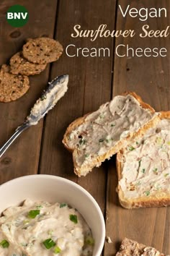
[[[28,77],[9,73],[9,66],[2,65],[0,70],[0,101],[16,101],[30,88]]]

